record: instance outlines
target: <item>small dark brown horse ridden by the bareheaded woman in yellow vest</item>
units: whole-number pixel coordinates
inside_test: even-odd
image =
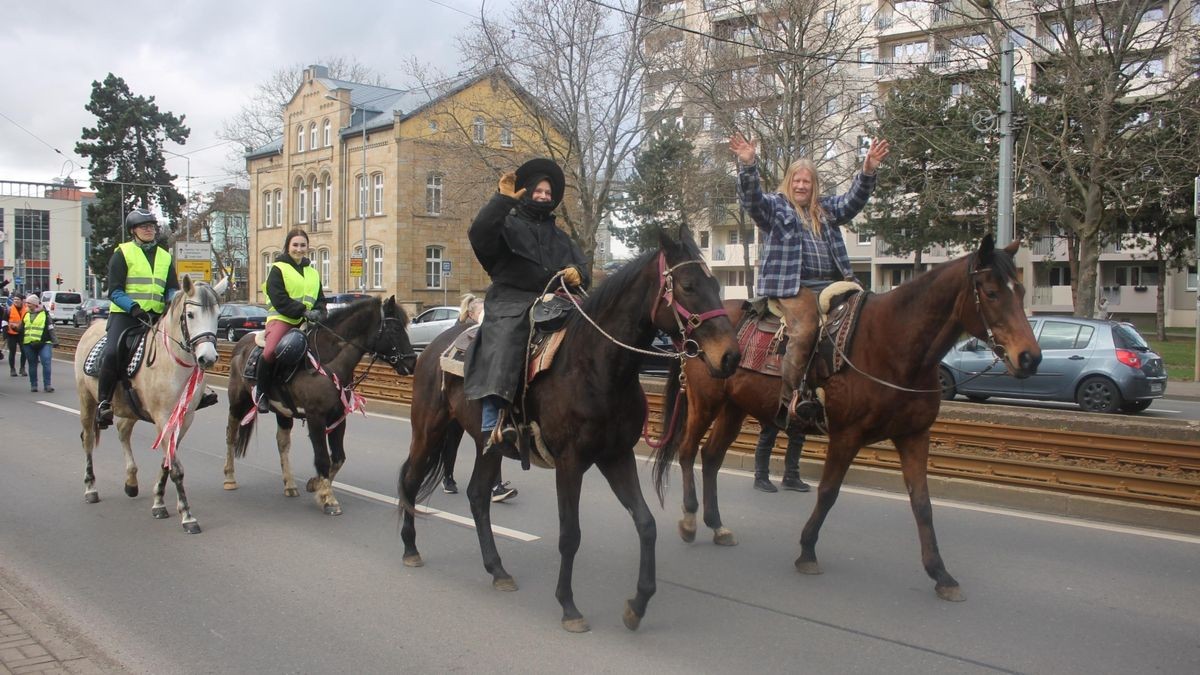
[[[382,359],[398,375],[413,372],[416,354],[408,341],[408,315],[392,295],[386,300],[364,298],[330,312],[324,321],[308,329],[308,352],[295,375],[283,382],[275,380],[270,392],[271,411],[277,429],[275,443],[280,450],[283,471],[283,494],[300,494],[292,476],[293,417],[306,420],[312,442],[313,466],[317,474],[305,488],[314,492],[317,506],[328,515],[341,515],[342,506],[334,496],[334,478],[346,462],[346,420],[362,407],[362,396],[354,390],[354,369],[365,354],[371,362]],[[226,422],[224,489],[236,490],[234,456],[246,456],[246,448],[254,434],[253,417],[257,407],[252,398],[253,380],[246,377],[246,362],[254,350],[254,333],[242,335],[233,348],[229,362],[229,418]],[[282,392],[282,396],[281,396]],[[277,400],[286,398],[287,401]],[[251,414],[251,412],[254,414]]]

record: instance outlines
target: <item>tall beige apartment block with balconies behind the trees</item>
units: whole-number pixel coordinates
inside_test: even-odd
[[[1192,2],[1190,8],[1187,2]],[[1054,2],[1000,6],[1006,16],[1020,17],[1014,19],[1020,30],[1010,36],[1018,52],[1014,86],[1024,90],[1062,36],[1062,13]],[[1166,8],[1172,8],[1169,17]],[[736,169],[725,139],[731,129],[757,129],[760,157],[767,160],[768,174],[773,173],[772,163],[780,167],[786,160],[809,156],[817,162],[827,186],[833,183],[836,191],[845,190],[860,166],[869,145],[866,125],[888,88],[919,66],[952,78],[954,72],[978,68],[996,30],[984,11],[967,0],[664,0],[646,4],[643,13],[654,24],[643,41],[650,64],[643,96],[647,118],[697,130],[700,151],[710,153],[710,161],[724,165],[731,177]],[[1082,14],[1074,28],[1094,28]],[[1200,2],[1168,1],[1162,10],[1151,8],[1142,16],[1142,22],[1164,19],[1200,25]],[[1036,48],[1039,46],[1043,49]],[[1152,76],[1180,67],[1180,59],[1189,50],[1194,54],[1195,44],[1158,46],[1148,49],[1138,66]],[[790,54],[791,61],[799,62],[788,62]],[[794,54],[810,58],[796,59]],[[708,78],[708,73],[716,74]],[[706,78],[710,82],[707,89]],[[952,95],[962,94],[966,86],[953,84]],[[797,94],[781,97],[781,91]],[[797,97],[805,98],[803,112],[794,101],[786,101]],[[780,109],[790,104],[797,110]],[[804,142],[773,149],[772,126],[784,124],[794,124],[791,138]],[[764,187],[773,189],[773,184],[767,181]],[[859,215],[856,222],[865,217]],[[714,209],[708,220],[708,227],[698,232],[706,258],[726,297],[743,298],[748,294],[746,261],[750,268],[757,264],[757,233],[752,223],[740,222],[732,204]],[[913,276],[912,256],[893,255],[883,241],[858,234],[854,223],[845,228],[845,235],[856,274],[872,289],[887,291]],[[1030,235],[1021,223],[1018,235]],[[922,264],[937,264],[962,252],[935,247],[922,253]],[[1018,264],[1030,291],[1026,303],[1031,312],[1073,311],[1067,261],[1063,237],[1040,237],[1032,247],[1022,249]],[[1097,271],[1097,292],[1109,312],[1126,318],[1152,317],[1158,286],[1164,285],[1166,324],[1194,324],[1195,265],[1159,279],[1151,250],[1127,238],[1102,251]]]

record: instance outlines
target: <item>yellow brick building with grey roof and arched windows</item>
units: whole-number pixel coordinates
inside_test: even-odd
[[[281,138],[246,155],[251,301],[266,301],[264,275],[292,227],[308,232],[326,295],[395,294],[414,311],[481,293],[467,228],[500,173],[545,154],[530,109],[498,72],[397,90],[306,68]],[[364,239],[365,288],[352,275]]]

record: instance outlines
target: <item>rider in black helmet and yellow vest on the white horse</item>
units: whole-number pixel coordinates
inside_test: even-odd
[[[96,407],[96,425],[101,429],[113,424],[113,389],[122,368],[118,362],[121,335],[139,323],[157,321],[179,291],[175,262],[158,246],[158,220],[154,214],[134,209],[126,216],[125,228],[132,237],[108,259],[108,344],[100,362],[100,405]]]

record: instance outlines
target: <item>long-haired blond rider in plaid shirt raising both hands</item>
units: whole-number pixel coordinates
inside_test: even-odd
[[[875,189],[875,171],[888,156],[888,142],[871,141],[863,171],[841,196],[822,193],[821,174],[809,159],[787,167],[779,192],[763,192],[754,143],[734,133],[730,150],[740,165],[738,201],[762,229],[755,291],[775,298],[784,310],[787,351],[782,398],[788,401],[787,417],[811,423],[821,405],[804,380],[817,340],[817,298],[834,281],[854,280],[841,226],[866,205]]]

